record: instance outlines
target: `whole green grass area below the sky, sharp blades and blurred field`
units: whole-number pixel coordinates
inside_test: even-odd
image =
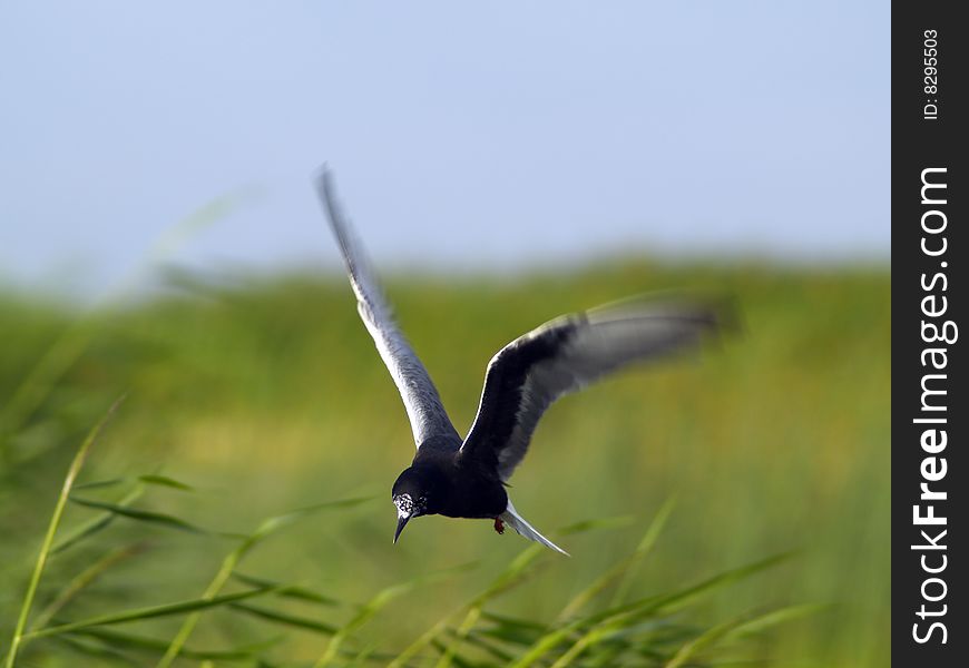
[[[511,493],[571,559],[443,518],[391,544],[410,428],[341,277],[183,278],[88,316],[0,296],[0,654],[65,472],[127,392],[45,551],[25,665],[884,665],[887,269],[635,262],[389,295],[463,431],[498,347],[666,287],[733,296],[742,331],[549,411]]]

